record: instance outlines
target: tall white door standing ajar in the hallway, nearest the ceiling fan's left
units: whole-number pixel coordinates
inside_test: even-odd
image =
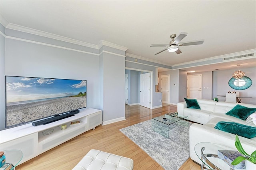
[[[140,106],[150,108],[150,73],[140,74]]]

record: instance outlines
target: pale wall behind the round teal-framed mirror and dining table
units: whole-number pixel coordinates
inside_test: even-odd
[[[212,97],[218,97],[219,101],[224,101],[224,97],[217,96],[218,94],[226,94],[227,92],[239,92],[241,96],[251,96],[252,98],[242,98],[242,103],[256,104],[256,67],[241,68],[245,72],[245,76],[252,80],[252,86],[245,90],[234,90],[228,85],[228,81],[232,78],[232,74],[236,71],[218,70],[212,74]]]

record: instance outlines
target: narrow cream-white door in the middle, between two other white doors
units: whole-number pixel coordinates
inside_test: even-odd
[[[169,104],[170,99],[170,75],[161,76],[162,102]]]

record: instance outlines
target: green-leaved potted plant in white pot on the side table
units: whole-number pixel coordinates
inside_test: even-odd
[[[238,138],[238,135],[236,135],[235,146],[238,152],[240,152],[244,156],[238,156],[233,162],[231,162],[231,164],[237,165],[244,160],[246,169],[256,170],[256,150],[252,152],[251,155],[247,154],[242,147],[242,144]]]

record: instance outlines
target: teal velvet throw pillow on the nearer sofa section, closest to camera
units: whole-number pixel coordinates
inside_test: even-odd
[[[256,128],[252,126],[246,126],[244,124],[236,122],[218,122],[215,129],[222,130],[224,132],[229,132],[232,134],[237,134],[238,136],[243,136],[245,138],[254,138],[256,136]]]

